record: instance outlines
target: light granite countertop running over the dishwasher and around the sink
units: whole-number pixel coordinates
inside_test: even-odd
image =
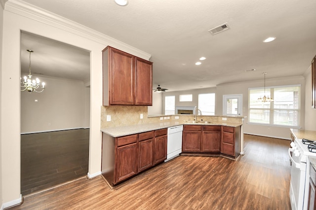
[[[147,124],[137,124],[137,125],[126,125],[126,126],[119,126],[119,127],[108,127],[108,128],[101,128],[103,133],[106,133],[112,137],[120,137],[126,136],[136,133],[142,133],[152,130],[158,130],[162,128],[173,127],[177,125],[183,124],[192,124],[192,125],[225,125],[230,127],[238,127],[241,123],[234,123],[234,122],[214,122],[210,124],[206,123],[186,123],[183,120],[171,120],[166,122],[155,122],[155,123],[147,123]]]

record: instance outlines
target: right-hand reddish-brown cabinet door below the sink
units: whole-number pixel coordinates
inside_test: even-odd
[[[203,131],[202,151],[203,152],[220,152],[220,131]]]

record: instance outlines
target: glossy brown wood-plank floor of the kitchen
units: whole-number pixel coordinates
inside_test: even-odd
[[[111,190],[101,177],[27,196],[12,210],[290,210],[289,141],[245,135],[245,155],[179,156]]]

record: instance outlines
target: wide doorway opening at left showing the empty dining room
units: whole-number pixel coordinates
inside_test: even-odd
[[[43,92],[21,91],[21,194],[85,177],[90,136],[90,52],[21,31],[21,77]],[[33,79],[33,78],[32,78]]]

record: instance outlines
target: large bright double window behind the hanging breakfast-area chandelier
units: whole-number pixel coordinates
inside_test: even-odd
[[[271,96],[274,102],[259,102],[258,98]],[[301,86],[277,86],[249,89],[249,122],[300,126]]]

